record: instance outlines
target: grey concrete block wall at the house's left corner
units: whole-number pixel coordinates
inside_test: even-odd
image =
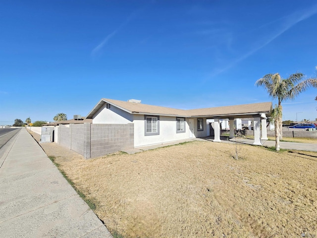
[[[85,159],[134,148],[133,123],[59,125],[56,132],[58,144]]]

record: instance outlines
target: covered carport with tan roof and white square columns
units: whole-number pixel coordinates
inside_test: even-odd
[[[230,137],[234,137],[234,119],[253,119],[254,145],[262,145],[267,140],[266,119],[271,116],[272,103],[254,103],[235,106],[225,106],[210,109],[195,109],[192,113],[207,119],[214,119],[214,142],[220,142],[220,119],[229,120]],[[262,129],[261,129],[262,128]],[[262,135],[262,136],[261,136]]]

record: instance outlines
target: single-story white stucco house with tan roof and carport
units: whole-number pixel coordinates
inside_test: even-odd
[[[92,124],[133,123],[134,148],[188,138],[207,136],[207,119],[214,119],[214,141],[220,141],[219,119],[228,119],[230,136],[234,136],[234,119],[253,118],[255,145],[266,136],[266,118],[271,102],[203,109],[173,109],[142,104],[140,100],[101,99],[85,119]],[[261,123],[262,133],[261,133]],[[262,138],[261,138],[262,134]]]

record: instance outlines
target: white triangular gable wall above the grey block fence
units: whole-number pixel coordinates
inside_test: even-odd
[[[106,108],[106,104],[98,110],[93,117],[93,124],[126,124],[131,123],[133,115],[111,105],[109,109]]]

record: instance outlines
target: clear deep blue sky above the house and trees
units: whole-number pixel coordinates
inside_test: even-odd
[[[270,102],[265,74],[316,76],[315,0],[1,0],[0,19],[2,125],[87,116],[101,98]],[[316,96],[285,102],[283,119],[317,118]]]

